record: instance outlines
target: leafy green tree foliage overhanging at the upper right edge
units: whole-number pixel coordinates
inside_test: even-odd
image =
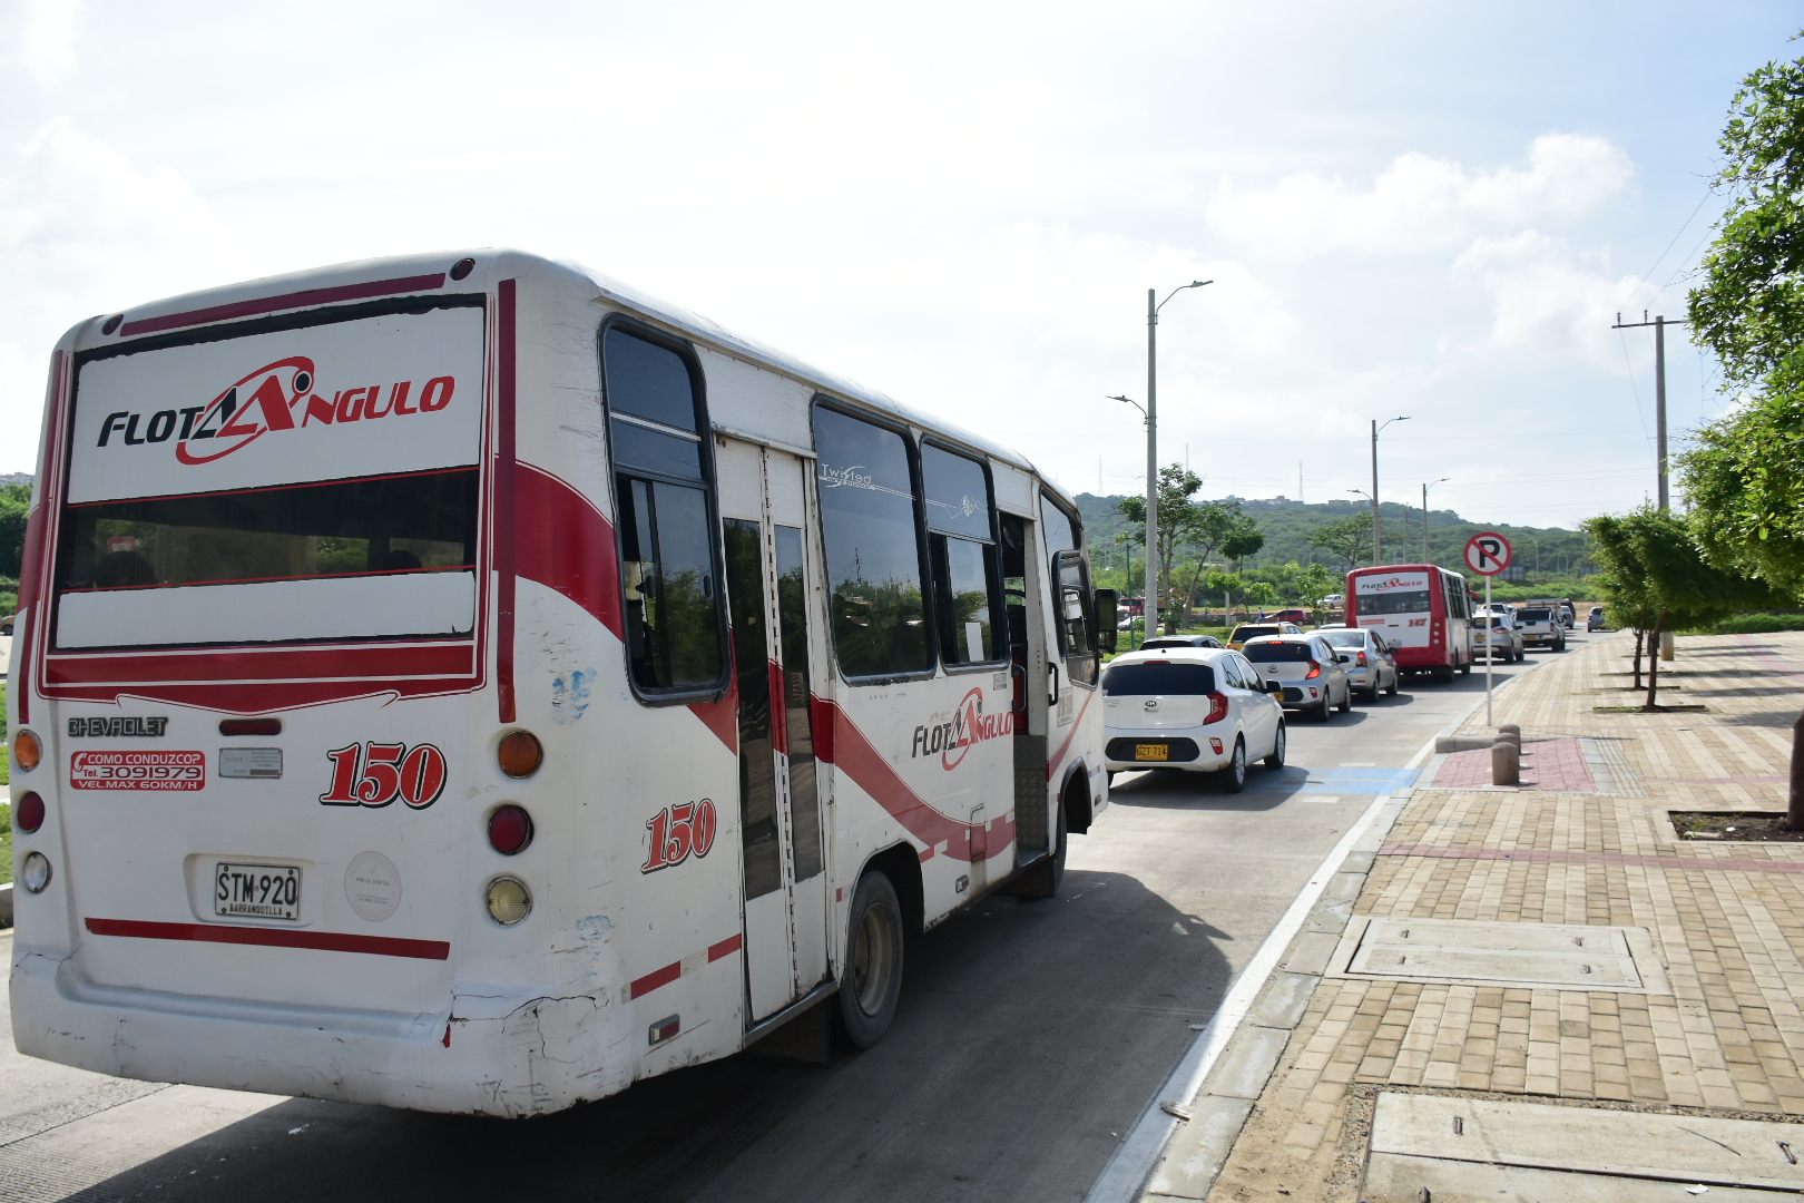
[[[1804,590],[1804,60],[1741,81],[1712,186],[1728,193],[1689,296],[1692,337],[1746,400],[1680,456],[1710,559]]]

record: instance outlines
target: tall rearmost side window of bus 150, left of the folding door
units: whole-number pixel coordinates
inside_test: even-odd
[[[727,662],[695,372],[621,326],[604,332],[601,363],[633,684],[644,694],[716,689]]]

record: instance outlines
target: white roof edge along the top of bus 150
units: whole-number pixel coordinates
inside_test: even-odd
[[[704,317],[689,308],[664,301],[649,292],[613,280],[612,276],[583,267],[574,260],[554,260],[529,251],[478,247],[464,251],[438,251],[433,254],[355,260],[299,272],[287,272],[281,276],[262,276],[258,280],[245,280],[218,289],[182,292],[179,296],[162,298],[124,310],[123,323],[117,328],[117,337],[193,328],[260,314],[316,308],[319,305],[373,296],[424,292],[440,287],[456,289],[460,285],[449,283],[442,272],[464,258],[474,258],[478,265],[476,271],[471,272],[471,290],[487,289],[489,281],[509,276],[550,278],[552,283],[561,283],[565,287],[575,285],[579,289],[594,290],[599,299],[610,305],[631,310],[653,325],[667,326],[718,352],[725,352],[736,359],[788,375],[821,390],[823,393],[875,409],[895,420],[920,426],[934,435],[965,444],[972,451],[981,451],[996,460],[1030,471],[1041,478],[1041,483],[1046,489],[1063,498],[1070,509],[1077,509],[1072,494],[1052,482],[1045,473],[1039,473],[1039,469],[1034,467],[1034,462],[1019,451],[992,442],[983,435],[967,431],[953,422],[945,422],[943,418],[933,417],[922,409],[904,406],[893,397],[864,388],[850,377],[823,372],[821,368],[758,343],[756,339],[738,335],[711,317]],[[90,317],[76,325],[63,337],[60,346],[87,350],[115,343],[115,337],[103,337],[103,319],[105,317]]]

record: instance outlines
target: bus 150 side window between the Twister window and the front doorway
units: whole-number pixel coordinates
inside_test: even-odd
[[[990,523],[990,482],[983,465],[931,444],[920,449],[933,559],[933,602],[940,660],[947,666],[1003,658],[1001,565]]]

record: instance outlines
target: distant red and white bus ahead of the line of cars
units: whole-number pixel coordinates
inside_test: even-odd
[[[1348,574],[1348,626],[1384,635],[1396,667],[1450,682],[1472,671],[1465,577],[1438,565],[1384,565]]]

